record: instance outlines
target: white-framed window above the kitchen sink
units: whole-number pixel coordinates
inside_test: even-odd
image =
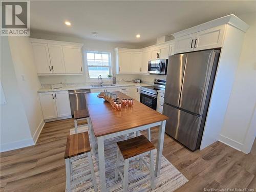
[[[108,77],[111,74],[111,53],[87,51],[89,78]]]

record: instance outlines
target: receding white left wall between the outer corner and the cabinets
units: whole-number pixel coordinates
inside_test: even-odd
[[[28,36],[10,36],[9,46],[16,73],[18,89],[22,97],[31,135],[36,141],[44,124],[40,100],[37,94],[41,84],[36,75],[33,50]]]

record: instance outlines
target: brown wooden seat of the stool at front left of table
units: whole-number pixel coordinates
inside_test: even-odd
[[[65,159],[91,151],[88,132],[69,135],[66,144]]]

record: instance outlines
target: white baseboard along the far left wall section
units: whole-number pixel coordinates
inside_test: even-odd
[[[0,152],[16,150],[17,148],[23,148],[23,147],[31,146],[31,145],[34,145],[34,140],[32,138],[15,141],[15,142],[11,142],[11,143],[5,143],[5,144],[1,145]]]

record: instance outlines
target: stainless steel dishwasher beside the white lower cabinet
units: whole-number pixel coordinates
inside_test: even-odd
[[[74,115],[75,110],[84,110],[86,107],[86,97],[84,94],[91,93],[90,89],[70,90],[69,101],[71,114]]]

